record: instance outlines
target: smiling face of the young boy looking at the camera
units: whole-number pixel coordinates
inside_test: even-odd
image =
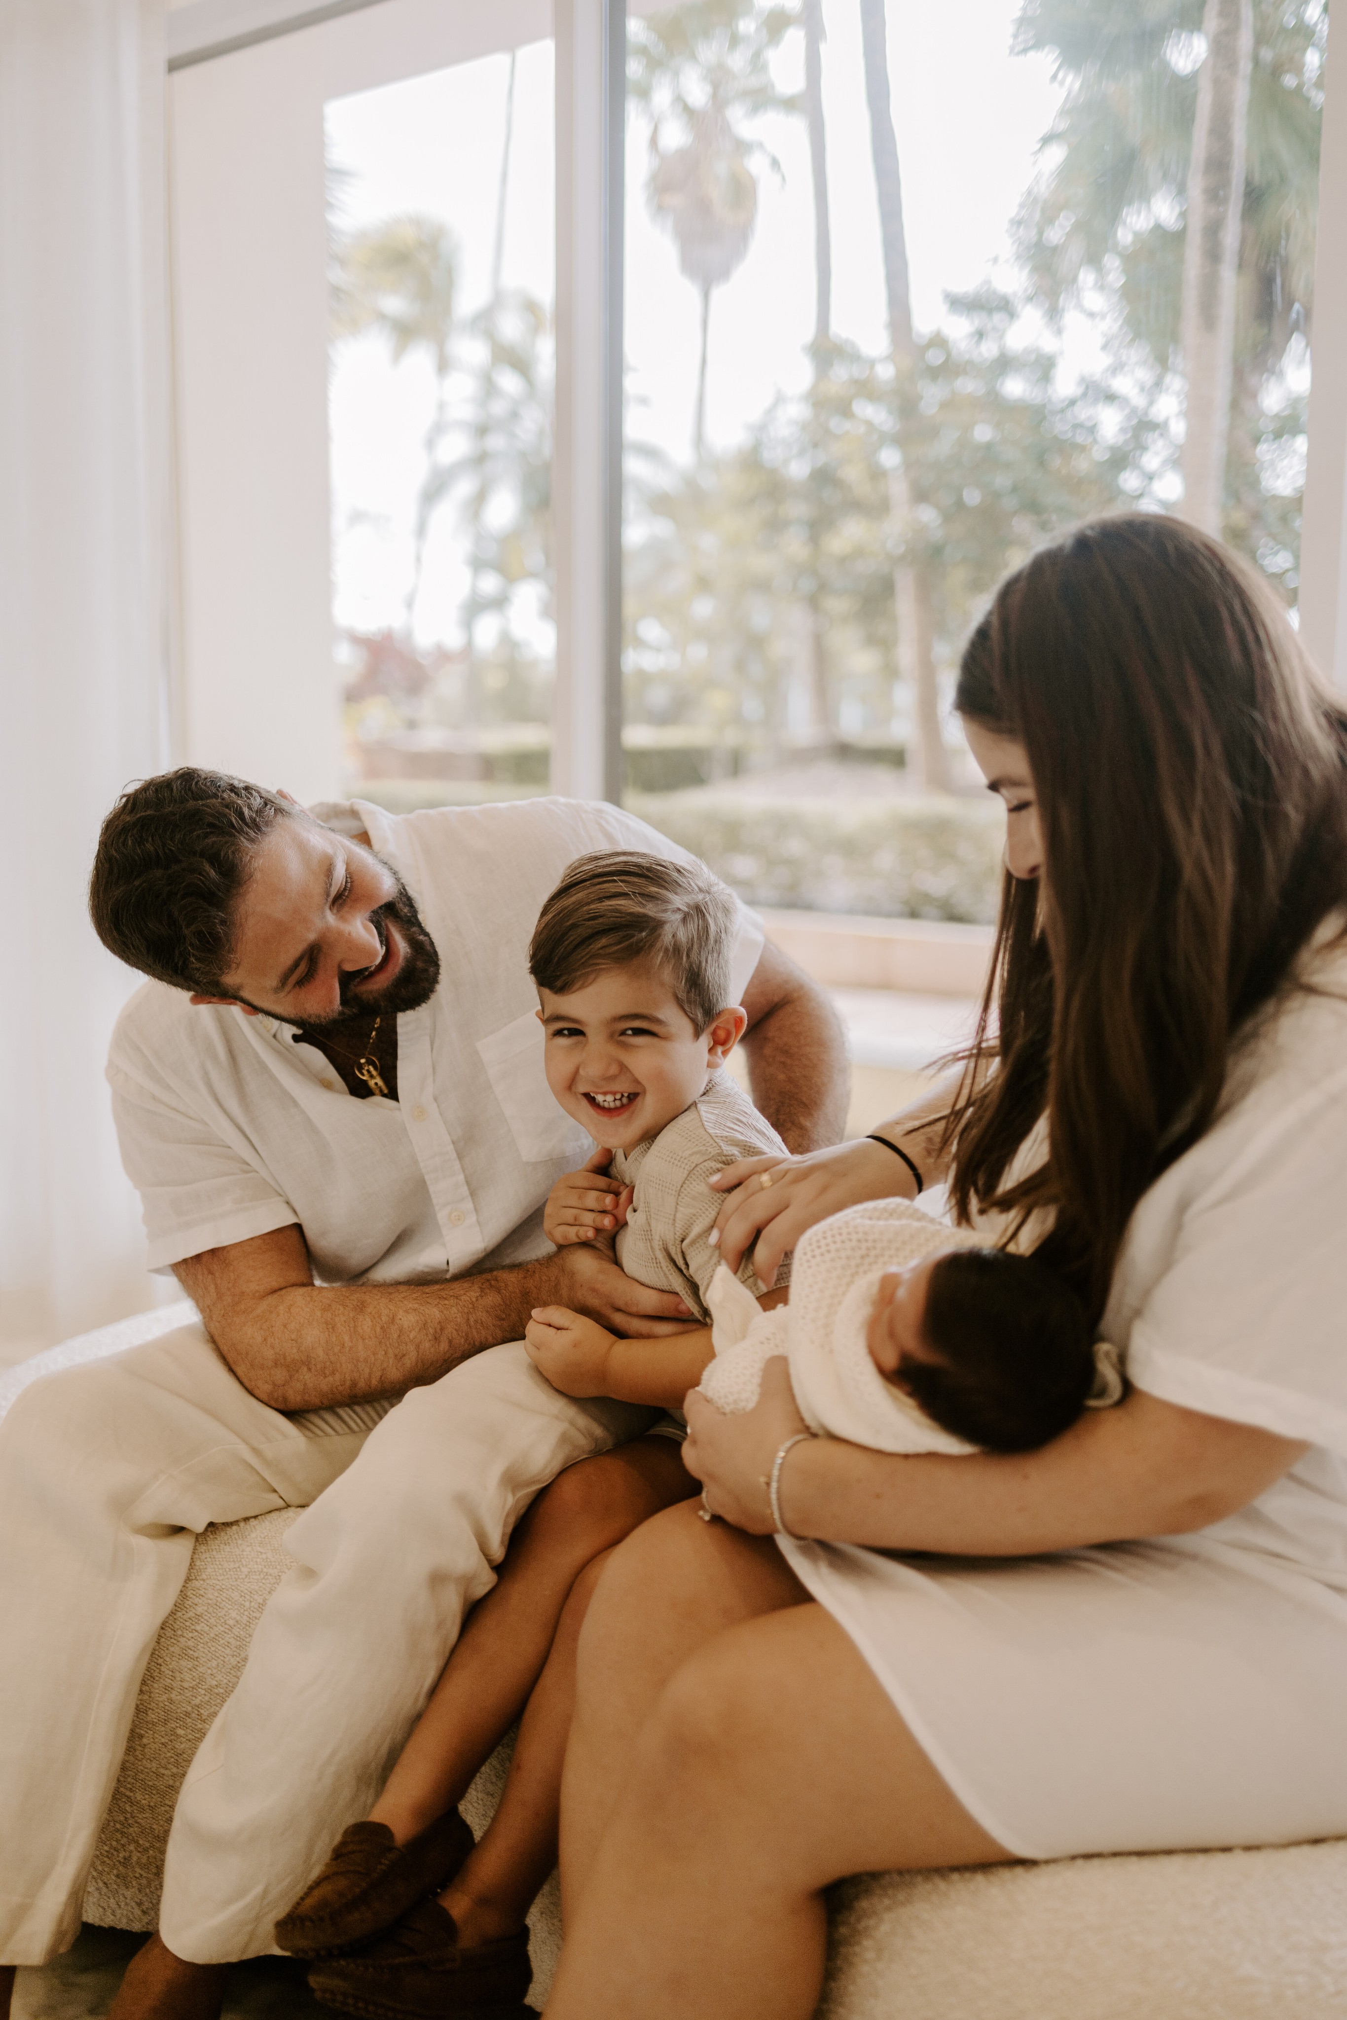
[[[743,1010],[705,1032],[652,962],[606,968],[582,988],[539,990],[547,1087],[606,1149],[636,1149],[697,1101],[743,1034]]]

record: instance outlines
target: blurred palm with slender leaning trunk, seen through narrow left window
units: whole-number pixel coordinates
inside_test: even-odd
[[[412,628],[426,562],[426,535],[440,501],[438,448],[448,426],[448,380],[454,368],[454,295],[458,242],[440,218],[386,218],[335,246],[331,327],[335,337],[378,329],[394,364],[424,351],[434,370],[434,410],[422,438],[424,477],[412,527],[412,582],[406,628]]]

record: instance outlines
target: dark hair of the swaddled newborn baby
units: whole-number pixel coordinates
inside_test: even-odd
[[[939,1364],[903,1364],[941,1430],[988,1452],[1032,1452],[1076,1422],[1095,1382],[1084,1305],[1046,1265],[955,1248],[931,1267],[923,1333]]]

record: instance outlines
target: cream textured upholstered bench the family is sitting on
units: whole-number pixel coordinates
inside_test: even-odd
[[[178,1325],[147,1315],[0,1376],[0,1410],[38,1372]],[[283,1509],[206,1529],[141,1683],[85,1917],[149,1929],[182,1776],[281,1580]],[[483,1830],[507,1747],[464,1812]],[[333,1832],[335,1834],[335,1832]],[[555,1881],[531,1915],[541,2008],[559,1945]],[[1068,1858],[876,1875],[836,1889],[820,2020],[1347,2020],[1347,1840],[1278,1850]]]

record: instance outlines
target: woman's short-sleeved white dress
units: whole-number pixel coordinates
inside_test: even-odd
[[[1307,974],[1139,1202],[1103,1321],[1137,1388],[1305,1458],[1143,1543],[969,1561],[780,1539],[1024,1858],[1347,1834],[1347,955]]]

